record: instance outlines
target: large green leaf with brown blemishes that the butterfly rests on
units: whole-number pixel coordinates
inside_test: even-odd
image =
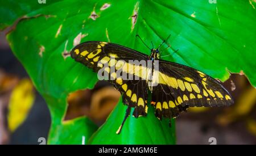
[[[52,117],[49,144],[81,144],[97,129],[89,119],[63,122],[67,96],[92,88],[96,73],[63,53],[75,43],[111,41],[149,54],[138,40],[158,45],[171,34],[172,48],[162,56],[179,51],[165,60],[204,71],[222,81],[241,70],[256,85],[256,11],[252,0],[217,1],[1,1],[0,28],[21,18],[7,39],[36,88],[44,96]],[[104,4],[109,4],[102,10]],[[108,5],[106,5],[108,6]],[[90,15],[95,12],[95,20]],[[134,21],[133,15],[137,15]],[[133,17],[132,17],[133,16]],[[23,17],[23,18],[22,18]],[[26,18],[24,18],[26,17]],[[134,21],[134,23],[133,23]],[[167,47],[167,45],[165,45]],[[174,144],[175,127],[158,121],[150,107],[147,117],[129,117],[120,135],[126,106],[121,102],[108,121],[90,138],[90,144]]]

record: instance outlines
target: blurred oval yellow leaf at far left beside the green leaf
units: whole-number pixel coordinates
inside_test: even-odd
[[[28,78],[22,79],[11,92],[9,100],[7,121],[11,132],[14,132],[26,120],[34,100],[35,92],[32,82]]]

